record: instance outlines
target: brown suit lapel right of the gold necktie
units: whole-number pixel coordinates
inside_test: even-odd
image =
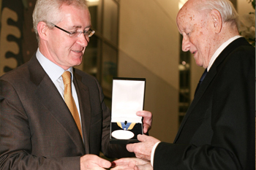
[[[91,104],[89,98],[89,89],[82,82],[82,77],[75,72],[74,69],[74,84],[75,90],[78,94],[81,123],[83,128],[83,139],[86,147],[86,154],[90,153],[89,136],[90,136],[90,124],[91,124]]]

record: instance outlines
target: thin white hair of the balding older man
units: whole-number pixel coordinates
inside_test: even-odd
[[[230,23],[239,27],[238,13],[229,0],[200,0],[197,9],[209,11],[217,9],[220,15],[222,15],[223,23]]]

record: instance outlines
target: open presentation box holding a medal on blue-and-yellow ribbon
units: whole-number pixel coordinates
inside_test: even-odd
[[[138,142],[143,134],[143,117],[136,112],[143,110],[145,78],[113,78],[110,143],[129,144]]]

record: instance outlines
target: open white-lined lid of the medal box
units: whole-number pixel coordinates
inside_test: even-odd
[[[143,110],[146,79],[113,78],[111,122],[142,123],[136,112]]]

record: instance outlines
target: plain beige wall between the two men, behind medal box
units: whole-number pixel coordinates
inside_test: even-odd
[[[173,142],[178,131],[177,0],[121,0],[118,77],[145,77],[151,136]]]

